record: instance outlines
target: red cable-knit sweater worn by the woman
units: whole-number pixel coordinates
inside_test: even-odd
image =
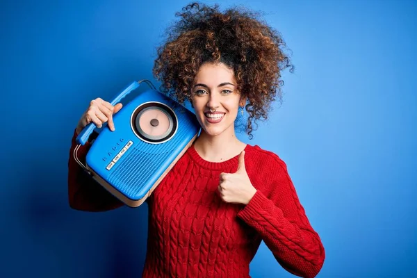
[[[106,211],[123,204],[69,161],[70,206]],[[90,146],[79,150],[81,161]],[[257,189],[249,204],[228,204],[218,194],[221,172],[236,172],[238,156],[204,161],[190,147],[147,199],[149,226],[142,277],[250,277],[250,262],[261,240],[277,262],[300,277],[315,277],[325,260],[288,176],[272,152],[247,145],[245,167]]]

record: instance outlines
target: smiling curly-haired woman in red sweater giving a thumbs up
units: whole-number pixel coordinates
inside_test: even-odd
[[[255,15],[220,13],[191,4],[158,49],[154,74],[164,92],[191,101],[201,135],[147,199],[149,236],[143,277],[249,277],[261,240],[277,262],[300,277],[315,277],[325,260],[320,237],[279,156],[235,136],[243,109],[253,120],[267,117],[279,92],[281,70],[291,67],[281,37]],[[121,104],[91,101],[76,135],[108,122]],[[85,158],[89,145],[79,153]],[[122,206],[83,175],[70,156],[70,206],[106,211]]]

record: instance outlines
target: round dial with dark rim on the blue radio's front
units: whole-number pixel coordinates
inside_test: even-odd
[[[165,104],[147,102],[138,106],[131,117],[133,132],[152,144],[170,140],[177,131],[177,115]]]

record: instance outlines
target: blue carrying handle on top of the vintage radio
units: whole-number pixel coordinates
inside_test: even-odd
[[[124,97],[126,97],[126,95],[129,95],[129,93],[132,90],[135,90],[136,88],[138,88],[139,85],[140,85],[140,83],[142,83],[142,82],[147,83],[147,85],[149,85],[149,87],[151,89],[156,90],[154,84],[152,84],[152,82],[149,81],[149,80],[147,80],[147,79],[143,79],[141,81],[134,81],[133,83],[131,83],[131,85],[129,85],[129,87],[127,87],[122,92],[120,92],[119,95],[115,96],[115,98],[110,101],[110,104],[112,106],[115,106],[117,103],[119,103],[120,100],[122,100]],[[79,148],[81,147],[81,145],[85,145],[85,142],[88,141],[88,138],[90,138],[90,135],[91,135],[92,131],[94,131],[95,128],[97,128],[97,126],[95,125],[94,122],[90,122],[90,124],[86,125],[83,128],[83,130],[79,133],[79,135],[76,137],[77,145],[76,145],[76,147],[74,149],[74,158],[75,158],[75,161],[77,163],[79,163],[79,165],[81,167],[83,167],[84,170],[88,172],[88,174],[91,174],[91,172],[87,169],[87,167],[85,167],[85,165],[83,165],[83,163],[81,163],[81,161],[79,160],[79,158],[77,156],[77,152],[78,152]]]

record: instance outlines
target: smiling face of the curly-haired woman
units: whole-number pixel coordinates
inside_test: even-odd
[[[240,93],[234,71],[226,65],[204,63],[195,76],[193,106],[202,129],[210,136],[234,133]]]

